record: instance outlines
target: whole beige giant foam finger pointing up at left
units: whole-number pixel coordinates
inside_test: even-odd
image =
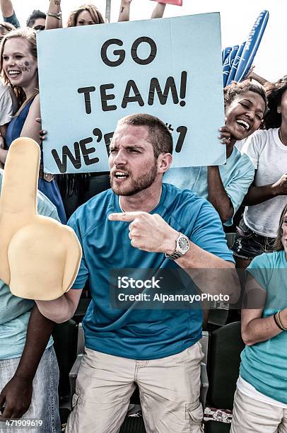
[[[0,197],[0,278],[16,296],[48,301],[73,284],[81,246],[72,229],[37,215],[39,164],[34,140],[11,144]]]

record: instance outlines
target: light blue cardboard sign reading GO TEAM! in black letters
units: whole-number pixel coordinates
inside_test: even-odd
[[[108,170],[117,120],[148,112],[174,139],[174,167],[225,163],[219,13],[37,34],[46,173]]]

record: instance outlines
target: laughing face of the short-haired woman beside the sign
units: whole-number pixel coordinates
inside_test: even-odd
[[[265,102],[258,93],[245,91],[235,96],[225,107],[225,125],[230,129],[231,137],[242,140],[256,131],[264,117]]]

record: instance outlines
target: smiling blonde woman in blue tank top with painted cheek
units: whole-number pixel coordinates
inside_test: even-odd
[[[40,117],[38,91],[36,33],[32,29],[13,30],[4,36],[0,49],[0,70],[4,83],[13,89],[20,108],[6,130],[6,149],[0,149],[0,161],[5,163],[8,148],[18,137],[30,137],[40,145]],[[59,218],[66,223],[66,214],[54,176],[44,173],[42,162],[39,173],[39,190],[57,207]]]

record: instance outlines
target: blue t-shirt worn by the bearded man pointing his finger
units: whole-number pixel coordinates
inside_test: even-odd
[[[180,353],[201,338],[201,310],[139,310],[132,305],[124,310],[110,305],[110,269],[180,269],[163,253],[133,248],[129,223],[109,221],[107,217],[113,212],[122,212],[119,197],[107,190],[83,204],[68,221],[83,248],[73,289],[83,288],[89,279],[92,296],[83,319],[86,346],[130,359],[158,359]],[[197,246],[233,262],[218,214],[197,194],[164,183],[160,202],[151,214],[160,214]]]

